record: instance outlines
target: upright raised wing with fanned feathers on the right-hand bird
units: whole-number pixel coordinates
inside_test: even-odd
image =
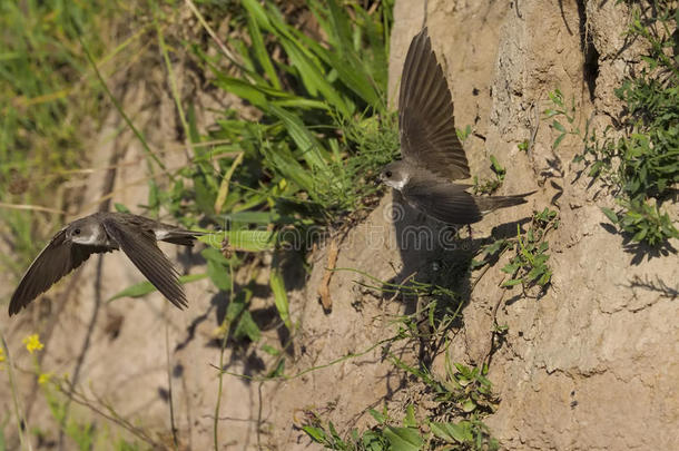
[[[405,57],[398,129],[403,158],[447,179],[470,176],[466,155],[455,133],[451,94],[426,28],[413,38]]]

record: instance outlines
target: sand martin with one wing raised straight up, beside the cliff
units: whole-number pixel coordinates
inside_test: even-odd
[[[407,49],[398,94],[398,130],[403,159],[380,174],[414,208],[447,224],[472,224],[496,208],[524,204],[524,197],[473,196],[471,185],[451,180],[470,176],[466,155],[455,133],[453,101],[426,32]]]

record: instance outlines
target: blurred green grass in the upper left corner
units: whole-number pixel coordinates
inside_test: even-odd
[[[49,192],[47,209],[63,208],[53,196],[63,178],[51,174],[80,167],[81,125],[98,116],[99,91],[78,39],[101,56],[116,10],[116,2],[100,0],[0,2],[0,234],[16,254],[0,265],[17,274],[40,248],[35,224],[56,226],[31,206],[45,204]]]

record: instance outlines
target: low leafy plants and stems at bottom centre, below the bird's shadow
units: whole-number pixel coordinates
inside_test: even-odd
[[[469,367],[452,363],[449,359],[449,332],[459,324],[464,305],[460,295],[450,287],[452,271],[435,265],[432,282],[409,277],[403,284],[380,281],[370,274],[352,271],[371,281],[357,282],[360,285],[382,295],[402,295],[412,301],[417,298],[417,311],[395,320],[397,332],[384,340],[383,355],[395,367],[410,374],[411,381],[420,384],[419,393],[430,399],[434,406],[423,415],[417,412],[416,403],[400,409],[384,405],[382,410],[367,409],[375,420],[375,425],[367,430],[353,429],[338,431],[332,421],[315,410],[306,410],[301,428],[316,443],[331,450],[432,450],[432,449],[470,449],[496,450],[499,442],[492,438],[483,419],[495,411],[499,399],[493,394],[492,384],[486,378],[488,366]],[[466,266],[464,268],[466,271]],[[444,343],[445,374],[443,378],[433,374],[422,361],[412,365],[394,355],[391,349],[400,341],[420,343],[431,353],[441,352],[439,343]],[[424,356],[421,355],[421,359]],[[424,357],[425,360],[427,357]]]

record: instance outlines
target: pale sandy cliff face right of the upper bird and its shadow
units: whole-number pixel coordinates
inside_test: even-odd
[[[397,7],[394,82],[398,49],[421,24],[413,3]],[[612,199],[577,177],[571,160],[579,143],[553,151],[554,131],[542,119],[554,88],[574,99],[581,129],[588,118],[602,126],[620,111],[613,88],[639,61],[639,49],[623,46],[624,7],[600,3],[430,1],[427,21],[447,62],[457,127],[471,124],[484,138],[465,146],[472,171],[493,154],[508,169],[503,190],[538,188],[533,207],[551,206],[561,216],[549,238],[554,276],[547,295],[499,310],[509,333],[490,379],[502,402],[488,422],[508,449],[665,449],[679,439],[677,257],[639,262],[623,249],[622,238],[600,224],[607,219],[599,206]],[[516,144],[531,136],[524,155]],[[512,215],[503,210],[480,228]],[[486,275],[475,287],[453,360],[478,361],[483,352],[500,277]]]

